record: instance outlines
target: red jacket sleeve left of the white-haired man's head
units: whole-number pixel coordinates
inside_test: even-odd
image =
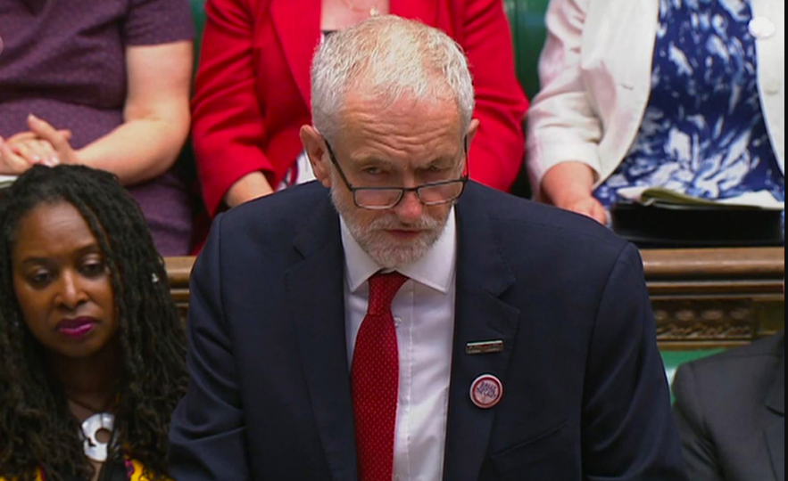
[[[215,215],[233,183],[273,167],[262,151],[266,131],[252,55],[255,9],[248,0],[208,0],[205,12],[193,138],[203,199]]]

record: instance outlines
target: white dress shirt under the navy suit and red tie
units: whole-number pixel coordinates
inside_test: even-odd
[[[381,267],[361,249],[344,220],[344,306],[349,365],[367,314],[369,278]],[[400,394],[394,438],[394,480],[444,477],[449,383],[454,338],[457,229],[454,210],[441,237],[418,262],[398,272],[410,278],[392,303],[400,354]]]

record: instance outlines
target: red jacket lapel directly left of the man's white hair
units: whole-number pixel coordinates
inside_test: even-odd
[[[312,56],[320,44],[319,0],[273,0],[271,18],[285,52],[295,85],[311,108]]]

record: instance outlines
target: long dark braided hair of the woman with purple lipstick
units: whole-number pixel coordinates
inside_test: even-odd
[[[47,481],[89,478],[79,423],[46,367],[12,286],[11,252],[21,219],[42,203],[65,201],[79,210],[104,253],[120,322],[122,372],[115,421],[118,442],[108,461],[124,454],[145,466],[145,477],[168,475],[170,416],[186,393],[186,337],[162,257],[145,219],[117,178],[87,167],[33,167],[0,200],[0,478]],[[120,446],[120,447],[118,447]]]

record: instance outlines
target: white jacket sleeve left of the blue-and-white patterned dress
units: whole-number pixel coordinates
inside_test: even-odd
[[[603,130],[581,71],[583,29],[592,0],[552,0],[539,64],[542,90],[528,113],[527,167],[535,192],[552,167],[583,162],[601,173]]]

